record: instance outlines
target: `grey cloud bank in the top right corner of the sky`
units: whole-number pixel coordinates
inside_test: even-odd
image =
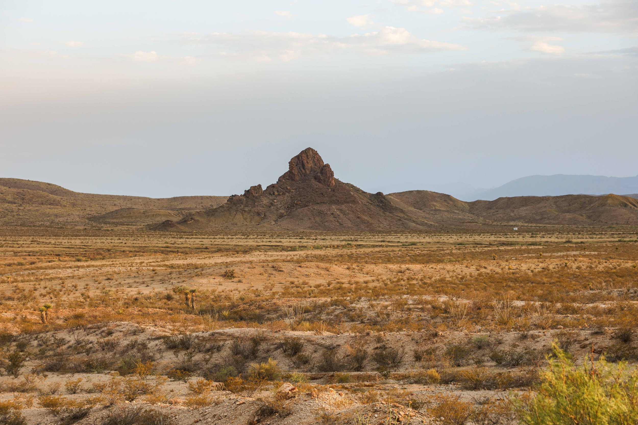
[[[517,31],[638,32],[638,1],[603,0],[577,6],[554,4],[512,8],[489,17],[466,19],[473,27]]]

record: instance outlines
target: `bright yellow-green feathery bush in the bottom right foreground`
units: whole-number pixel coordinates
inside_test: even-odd
[[[638,423],[638,371],[600,357],[574,366],[552,346],[555,358],[541,373],[537,395],[523,408],[526,425],[630,425]]]

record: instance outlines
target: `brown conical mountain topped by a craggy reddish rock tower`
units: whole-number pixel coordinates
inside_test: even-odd
[[[421,230],[433,227],[396,206],[381,192],[370,194],[334,178],[312,148],[288,163],[288,171],[266,189],[256,185],[228,201],[158,229],[317,229],[327,231]]]

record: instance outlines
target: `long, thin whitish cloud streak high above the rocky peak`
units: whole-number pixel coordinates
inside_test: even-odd
[[[351,52],[367,55],[421,54],[443,50],[467,50],[441,41],[420,40],[405,28],[383,27],[366,34],[333,37],[302,32],[253,31],[241,33],[187,34],[184,41],[209,44],[216,55],[252,61],[291,61],[302,55]]]

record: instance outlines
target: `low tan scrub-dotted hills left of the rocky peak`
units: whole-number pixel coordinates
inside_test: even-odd
[[[64,187],[0,178],[0,224],[18,226],[87,226],[107,224],[150,224],[180,220],[195,211],[221,205],[225,196],[96,195],[69,191]]]

